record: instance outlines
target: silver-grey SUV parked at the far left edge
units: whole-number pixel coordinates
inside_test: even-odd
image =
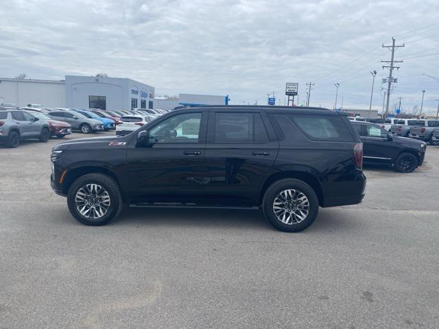
[[[17,147],[20,141],[38,138],[47,142],[50,136],[49,123],[22,110],[0,110],[0,141],[8,147]]]

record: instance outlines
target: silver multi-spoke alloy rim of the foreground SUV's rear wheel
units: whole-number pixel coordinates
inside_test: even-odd
[[[309,215],[309,200],[298,190],[288,189],[279,193],[273,202],[276,218],[284,224],[294,225]]]

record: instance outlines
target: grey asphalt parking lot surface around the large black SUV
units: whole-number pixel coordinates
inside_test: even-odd
[[[59,142],[0,145],[0,328],[439,328],[439,147],[291,234],[255,210],[83,226],[49,185]]]

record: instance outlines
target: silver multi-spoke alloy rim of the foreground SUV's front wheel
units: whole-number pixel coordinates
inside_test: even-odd
[[[76,192],[75,204],[82,216],[99,219],[104,217],[110,209],[110,195],[99,184],[86,184]]]

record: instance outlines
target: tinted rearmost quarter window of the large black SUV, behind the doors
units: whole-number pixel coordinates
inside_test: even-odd
[[[313,141],[353,141],[351,132],[340,117],[301,114],[289,114],[288,117]]]

